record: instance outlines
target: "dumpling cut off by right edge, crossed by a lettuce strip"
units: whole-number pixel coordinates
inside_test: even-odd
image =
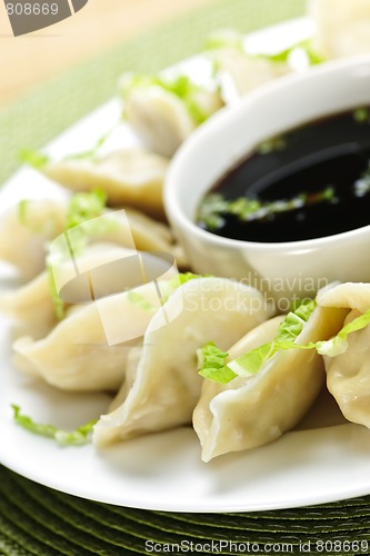
[[[370,284],[341,284],[318,296],[324,307],[351,309],[346,325],[370,309]],[[324,357],[327,384],[343,416],[370,428],[370,326],[349,334],[344,353]]]

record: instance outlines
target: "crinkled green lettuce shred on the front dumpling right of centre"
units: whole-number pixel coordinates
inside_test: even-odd
[[[296,340],[314,311],[316,306],[314,300],[302,302],[294,312],[291,311],[287,315],[280,324],[278,334],[272,341],[263,344],[263,346],[252,349],[228,364],[226,364],[226,357],[221,355],[223,351],[217,353],[216,349],[218,348],[214,345],[207,344],[202,349],[200,375],[224,384],[232,380],[236,376],[248,377],[257,375],[264,363],[281,349],[311,349],[311,345],[301,346],[296,344]]]

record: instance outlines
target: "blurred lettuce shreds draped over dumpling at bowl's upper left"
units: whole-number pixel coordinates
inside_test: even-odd
[[[124,76],[121,86],[123,102],[134,89],[149,89],[151,87],[160,87],[164,91],[176,95],[183,102],[197,125],[202,123],[209,118],[210,113],[200,106],[198,97],[199,93],[206,92],[207,89],[191,81],[188,76],[178,76],[172,79],[147,75]],[[124,108],[123,117],[127,117]]]

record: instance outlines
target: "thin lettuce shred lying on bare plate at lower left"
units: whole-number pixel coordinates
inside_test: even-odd
[[[97,420],[91,420],[73,431],[67,431],[61,430],[53,425],[36,423],[31,417],[21,414],[21,408],[14,404],[12,404],[11,407],[13,409],[13,418],[18,425],[34,435],[52,438],[61,446],[81,446],[83,444],[88,444],[90,441],[93,426],[97,423]]]

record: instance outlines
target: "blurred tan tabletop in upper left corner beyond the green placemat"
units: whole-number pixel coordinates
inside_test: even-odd
[[[0,3],[0,109],[109,47],[213,0],[89,0],[73,17],[14,38]]]

